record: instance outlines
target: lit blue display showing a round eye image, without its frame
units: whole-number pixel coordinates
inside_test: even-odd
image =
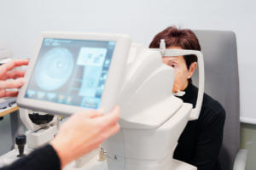
[[[115,44],[44,38],[25,97],[97,109]]]

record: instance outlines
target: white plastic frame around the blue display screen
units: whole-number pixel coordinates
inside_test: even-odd
[[[20,93],[17,99],[17,105],[21,108],[32,111],[44,111],[49,114],[57,114],[61,116],[70,116],[77,111],[88,111],[93,109],[83,108],[75,105],[65,105],[55,102],[49,102],[39,99],[28,99],[25,97],[32,71],[35,69],[38,54],[42,47],[44,38],[58,39],[73,39],[73,40],[88,40],[88,41],[115,41],[112,61],[108,69],[108,77],[105,82],[105,88],[102,93],[100,108],[108,112],[116,104],[119,87],[122,82],[122,77],[125,72],[125,63],[130,51],[131,38],[120,34],[97,34],[97,33],[72,33],[72,32],[44,32],[40,37],[40,41],[36,48],[36,53],[33,55],[27,67],[25,75],[25,84],[20,88]]]

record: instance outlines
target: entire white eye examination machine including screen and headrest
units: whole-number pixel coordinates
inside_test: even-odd
[[[194,109],[172,94],[174,71],[162,64],[162,56],[188,54],[195,54],[199,64]],[[119,105],[119,133],[102,144],[101,152],[94,150],[65,169],[196,169],[173,159],[173,152],[187,122],[201,111],[203,67],[201,52],[166,49],[165,40],[160,48],[145,48],[126,35],[44,32],[17,99],[28,129],[26,147],[1,156],[0,162],[9,164],[48,143],[61,126],[60,116],[99,108],[108,113]]]

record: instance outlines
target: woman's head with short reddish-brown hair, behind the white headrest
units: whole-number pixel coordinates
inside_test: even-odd
[[[195,33],[189,29],[178,29],[175,26],[167,27],[154,37],[149,48],[160,48],[160,39],[165,39],[166,48],[201,50]],[[178,90],[184,90],[188,82],[192,81],[191,77],[197,66],[197,58],[195,55],[164,56],[163,63],[174,68],[175,81],[172,92],[177,92]]]

